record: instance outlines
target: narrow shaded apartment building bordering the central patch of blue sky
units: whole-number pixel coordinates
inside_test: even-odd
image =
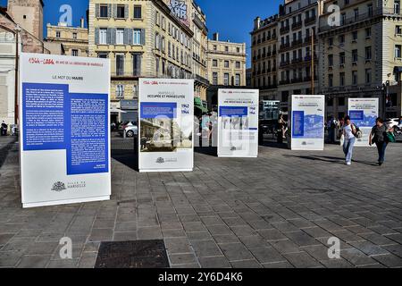
[[[251,86],[260,89],[261,100],[280,100],[278,96],[278,14],[265,20],[257,17],[251,34]]]

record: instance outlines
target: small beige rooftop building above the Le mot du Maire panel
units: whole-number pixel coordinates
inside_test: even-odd
[[[46,47],[54,55],[88,56],[88,29],[84,26],[84,19],[80,27],[68,27],[61,22],[57,26],[47,24]]]

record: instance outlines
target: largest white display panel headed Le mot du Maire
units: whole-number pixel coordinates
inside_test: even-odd
[[[22,206],[111,196],[110,63],[21,54]]]

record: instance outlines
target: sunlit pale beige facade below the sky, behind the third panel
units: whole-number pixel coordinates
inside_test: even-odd
[[[208,77],[213,86],[246,86],[246,44],[208,40]]]

